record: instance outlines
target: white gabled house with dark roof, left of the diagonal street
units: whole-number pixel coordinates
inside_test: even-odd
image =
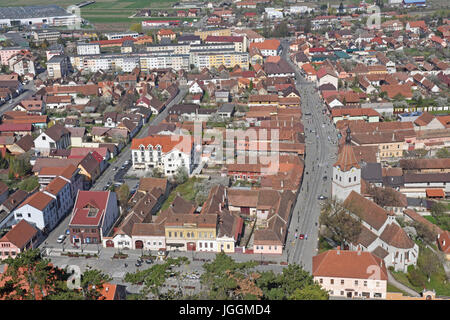
[[[69,146],[70,131],[62,124],[55,124],[34,139],[36,151],[43,156],[48,156],[51,149],[67,149]]]

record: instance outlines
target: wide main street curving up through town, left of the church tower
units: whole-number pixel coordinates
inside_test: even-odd
[[[303,182],[289,226],[285,250],[288,262],[301,264],[305,270],[312,272],[312,257],[317,254],[318,247],[321,208],[318,197],[331,197],[331,174],[337,154],[337,132],[328,116],[323,113],[325,105],[319,98],[315,84],[306,81],[298,67],[289,59],[289,43],[282,40],[281,44],[283,58],[295,70],[306,135]],[[304,234],[305,239],[295,239],[295,233]]]

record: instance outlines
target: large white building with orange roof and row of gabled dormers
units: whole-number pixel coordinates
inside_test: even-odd
[[[151,135],[133,139],[131,152],[134,169],[160,167],[164,174],[172,175],[178,167],[191,173],[194,165],[194,139],[191,136]]]

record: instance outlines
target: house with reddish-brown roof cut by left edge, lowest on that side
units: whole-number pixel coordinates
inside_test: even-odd
[[[25,250],[37,248],[39,244],[39,230],[26,220],[20,220],[0,239],[0,259],[15,258]]]

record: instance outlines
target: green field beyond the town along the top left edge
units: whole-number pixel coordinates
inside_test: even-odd
[[[56,4],[67,8],[70,5],[82,2],[82,0],[0,0],[0,7],[6,6],[31,6]],[[150,8],[169,10],[176,0],[96,0],[96,3],[81,8],[81,16],[88,20],[94,27],[101,31],[126,30],[133,23],[150,19],[173,19],[166,18],[130,18],[137,9]],[[192,18],[183,18],[191,22]]]

